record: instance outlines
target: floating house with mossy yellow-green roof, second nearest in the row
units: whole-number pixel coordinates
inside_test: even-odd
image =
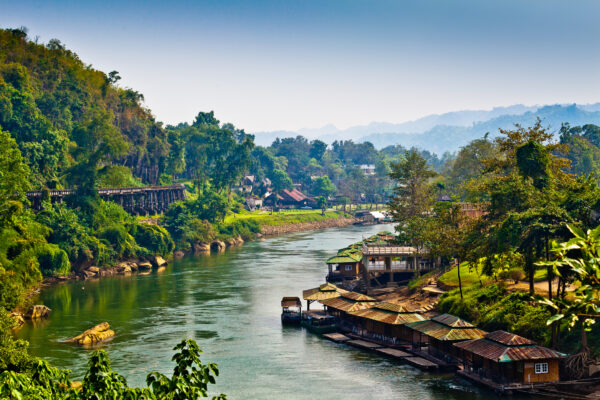
[[[479,339],[486,332],[470,322],[450,314],[433,317],[429,321],[413,322],[406,325],[404,336],[410,338],[413,347],[427,346],[429,354],[449,361],[456,357],[453,343]]]

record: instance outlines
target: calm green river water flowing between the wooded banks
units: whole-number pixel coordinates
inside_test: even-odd
[[[335,344],[302,328],[282,327],[283,296],[325,280],[337,249],[390,226],[332,228],[254,241],[224,254],[186,257],[162,273],[74,281],[46,288],[50,318],[18,333],[33,355],[81,379],[91,350],[61,343],[108,321],[103,345],[132,386],[147,372],[170,375],[172,348],[195,339],[203,361],[219,364],[216,393],[230,399],[491,399],[452,375]]]

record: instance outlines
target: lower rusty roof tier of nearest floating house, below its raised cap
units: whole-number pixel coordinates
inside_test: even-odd
[[[538,345],[506,346],[486,338],[454,343],[454,346],[496,362],[561,358],[564,354]]]

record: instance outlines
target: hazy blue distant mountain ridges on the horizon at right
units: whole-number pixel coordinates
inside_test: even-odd
[[[389,145],[400,144],[405,147],[418,147],[441,154],[456,151],[473,139],[490,133],[498,134],[498,129],[509,129],[514,124],[532,125],[540,118],[545,127],[557,132],[562,123],[571,125],[600,124],[600,103],[578,105],[496,107],[492,110],[464,110],[445,114],[428,115],[404,123],[372,122],[368,125],[348,129],[337,129],[326,125],[316,129],[298,131],[255,132],[255,142],[268,146],[276,138],[305,136],[320,139],[326,143],[335,140],[356,142],[369,141],[381,149]]]

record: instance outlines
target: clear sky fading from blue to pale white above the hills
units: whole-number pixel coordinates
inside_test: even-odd
[[[145,96],[247,132],[600,101],[596,0],[0,0]]]

